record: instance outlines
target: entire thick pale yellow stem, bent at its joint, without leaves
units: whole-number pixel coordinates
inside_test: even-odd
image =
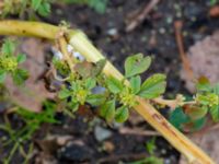
[[[19,36],[35,36],[48,39],[56,39],[60,28],[54,25],[22,22],[22,21],[0,21],[0,35],[19,35]],[[68,32],[69,43],[83,55],[88,61],[96,62],[103,59],[103,55],[88,40],[85,35],[72,30]],[[118,80],[123,80],[124,75],[107,61],[104,73],[113,75]],[[128,82],[126,82],[128,85]],[[135,109],[154,128],[157,129],[174,148],[183,153],[189,163],[214,164],[215,162],[197,145],[195,145],[183,133],[175,129],[169,121],[157,112],[147,101],[136,97],[138,105]]]

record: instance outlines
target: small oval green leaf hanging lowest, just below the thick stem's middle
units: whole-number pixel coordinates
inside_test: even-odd
[[[126,106],[122,106],[116,110],[115,120],[117,122],[124,122],[128,119],[128,117],[129,117],[129,110]]]

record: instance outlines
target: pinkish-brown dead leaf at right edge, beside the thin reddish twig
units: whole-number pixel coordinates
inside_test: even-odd
[[[187,52],[194,75],[207,77],[211,83],[219,81],[219,31],[204,40],[196,43]],[[186,87],[195,91],[194,82],[186,77],[184,70],[181,71],[181,78],[185,80]]]

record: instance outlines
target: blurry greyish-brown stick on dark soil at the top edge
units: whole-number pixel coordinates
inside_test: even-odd
[[[126,26],[126,32],[134,31],[151,12],[151,10],[159,3],[160,0],[151,0],[149,4],[140,12],[139,15],[132,19],[132,21]]]

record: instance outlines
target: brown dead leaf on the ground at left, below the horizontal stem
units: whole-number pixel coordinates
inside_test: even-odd
[[[25,86],[18,87],[10,78],[7,79],[5,85],[10,92],[10,98],[20,106],[39,112],[42,103],[46,98],[54,98],[55,94],[49,93],[45,89],[43,80],[38,80],[45,71],[45,44],[35,38],[27,38],[21,44],[19,51],[27,56],[27,60],[22,68],[28,70],[30,78],[25,82]]]

